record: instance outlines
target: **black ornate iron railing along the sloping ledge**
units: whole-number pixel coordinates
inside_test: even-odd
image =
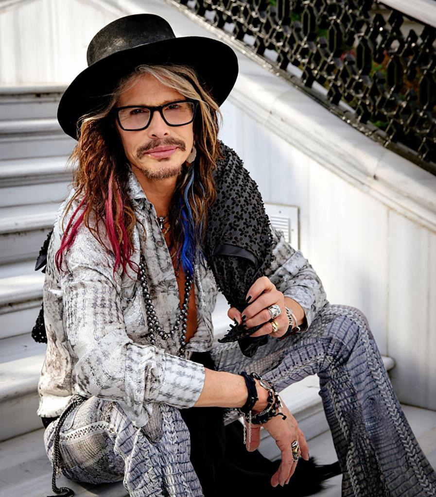
[[[167,1],[436,175],[435,27],[378,0]]]

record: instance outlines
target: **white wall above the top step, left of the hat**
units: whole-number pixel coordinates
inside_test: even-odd
[[[119,13],[80,0],[0,1],[0,84],[69,83],[93,35]]]

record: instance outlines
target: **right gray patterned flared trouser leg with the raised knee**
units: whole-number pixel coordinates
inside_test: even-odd
[[[253,359],[214,347],[217,369],[261,371],[281,391],[317,374],[344,471],[343,497],[436,495],[436,474],[406,420],[364,314],[327,304],[303,334],[269,338]],[[268,367],[272,365],[272,368]],[[227,420],[234,419],[227,411]]]

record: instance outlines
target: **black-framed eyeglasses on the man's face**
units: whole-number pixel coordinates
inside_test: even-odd
[[[126,105],[114,107],[112,113],[116,115],[120,128],[124,131],[140,131],[146,129],[158,110],[162,119],[169,126],[184,126],[194,120],[198,100],[187,98],[175,100],[164,105],[151,107],[149,105]]]

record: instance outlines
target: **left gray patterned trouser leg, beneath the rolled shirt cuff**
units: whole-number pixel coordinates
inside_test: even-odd
[[[189,431],[178,409],[162,408],[163,436],[151,443],[116,403],[91,397],[71,411],[60,431],[62,473],[76,482],[123,482],[134,497],[202,497],[189,460]],[[58,420],[44,432],[53,464],[53,439]]]

